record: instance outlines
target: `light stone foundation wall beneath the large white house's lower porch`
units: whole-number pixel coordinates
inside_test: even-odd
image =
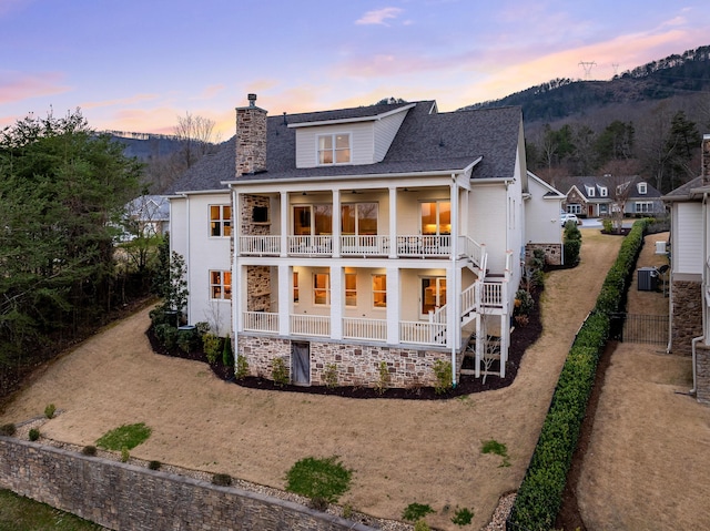
[[[325,385],[328,366],[337,370],[338,386],[375,387],[379,384],[379,364],[385,361],[389,371],[389,387],[410,388],[436,385],[434,362],[450,360],[450,351],[388,347],[385,345],[356,345],[323,340],[294,340],[308,343],[311,350],[311,385]],[[239,336],[239,356],[245,356],[250,375],[272,379],[272,362],[282,358],[291,367],[291,339],[272,336]],[[457,379],[463,356],[459,356]]]

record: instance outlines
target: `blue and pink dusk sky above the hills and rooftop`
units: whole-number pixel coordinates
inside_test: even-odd
[[[708,0],[0,0],[0,127],[77,108],[97,130],[234,130],[270,114],[436,100],[440,111],[710,44]]]

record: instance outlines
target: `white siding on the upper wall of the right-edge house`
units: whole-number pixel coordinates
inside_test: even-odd
[[[673,204],[673,273],[702,274],[702,205]]]

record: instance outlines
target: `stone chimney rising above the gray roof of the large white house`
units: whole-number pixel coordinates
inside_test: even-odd
[[[248,94],[248,106],[236,108],[236,176],[266,170],[266,111]]]

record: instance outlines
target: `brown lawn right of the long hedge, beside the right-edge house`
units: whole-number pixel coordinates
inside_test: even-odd
[[[646,238],[638,266],[659,266]],[[668,298],[631,286],[629,313],[668,315]],[[710,525],[710,407],[687,395],[688,357],[621,343],[606,372],[577,498],[589,530]]]

